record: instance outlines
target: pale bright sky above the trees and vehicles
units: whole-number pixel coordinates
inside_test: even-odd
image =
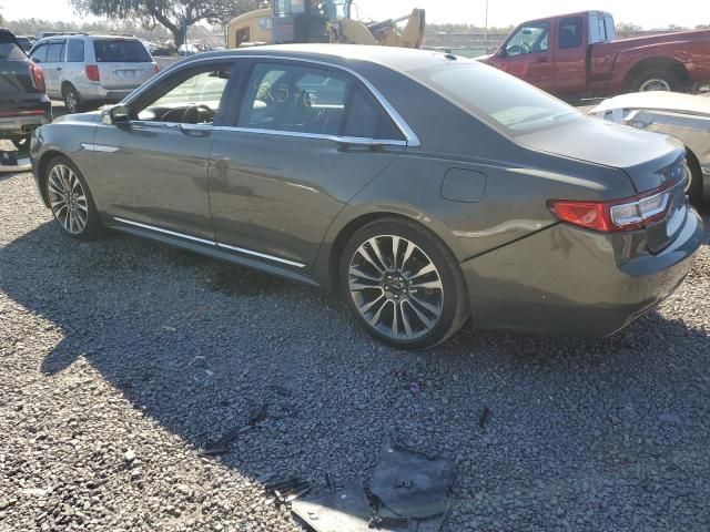
[[[429,22],[462,22],[483,25],[486,0],[355,0],[358,18],[382,20],[424,8]],[[0,0],[6,19],[80,20],[68,0]],[[645,29],[669,24],[696,27],[710,23],[707,0],[489,0],[489,25],[518,24],[547,14],[598,9],[609,11],[617,22],[632,22]]]

